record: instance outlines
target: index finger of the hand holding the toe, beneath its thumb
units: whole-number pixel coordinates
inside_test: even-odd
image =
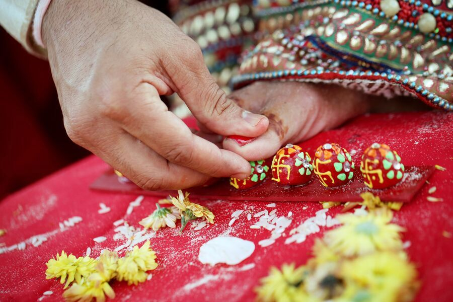
[[[246,178],[250,164],[241,156],[194,135],[161,101],[156,88],[141,83],[125,110],[123,127],[170,162],[213,177]]]

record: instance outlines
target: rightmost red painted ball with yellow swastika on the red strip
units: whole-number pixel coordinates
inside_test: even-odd
[[[370,189],[384,189],[399,183],[404,176],[401,157],[388,145],[373,143],[362,155],[360,172]]]

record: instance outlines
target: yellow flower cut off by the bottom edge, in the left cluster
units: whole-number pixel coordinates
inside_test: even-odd
[[[99,263],[102,266],[102,263]],[[96,299],[97,302],[104,302],[105,296],[113,299],[115,292],[109,284],[110,278],[107,278],[102,272],[95,272],[79,283],[73,283],[69,289],[63,292],[66,301],[89,302]]]

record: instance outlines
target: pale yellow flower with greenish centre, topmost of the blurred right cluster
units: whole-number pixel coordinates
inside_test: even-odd
[[[392,216],[392,211],[388,209],[363,216],[351,213],[337,215],[343,225],[327,232],[324,242],[333,252],[346,257],[401,250],[400,232],[404,229],[390,223]]]

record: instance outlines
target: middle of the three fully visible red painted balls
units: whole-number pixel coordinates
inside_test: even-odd
[[[325,143],[316,149],[313,169],[325,187],[342,186],[354,176],[351,156],[337,143]]]

